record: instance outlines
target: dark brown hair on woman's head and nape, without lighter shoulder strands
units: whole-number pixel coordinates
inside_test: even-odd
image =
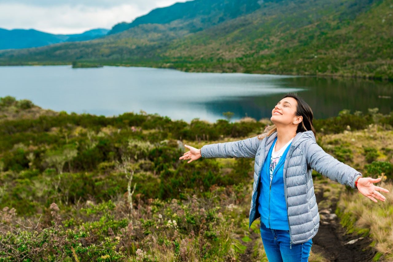
[[[298,107],[296,108],[296,115],[303,116],[303,121],[298,125],[296,133],[305,132],[311,130],[316,136],[314,125],[312,125],[312,120],[314,119],[314,114],[312,113],[311,107],[306,103],[298,93],[287,93],[283,98],[291,97],[298,102]]]

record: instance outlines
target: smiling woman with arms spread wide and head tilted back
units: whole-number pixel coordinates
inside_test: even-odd
[[[180,159],[190,163],[200,157],[255,157],[249,226],[261,217],[261,237],[270,262],[308,261],[320,222],[313,169],[357,188],[374,202],[386,199],[378,191],[389,191],[373,185],[380,178],[362,177],[318,146],[312,110],[297,94],[286,94],[272,110],[270,120],[274,125],[253,138],[201,149],[185,145],[190,151]]]

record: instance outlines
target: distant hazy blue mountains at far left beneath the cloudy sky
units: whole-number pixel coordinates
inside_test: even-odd
[[[81,34],[54,35],[34,29],[6,30],[0,28],[0,49],[19,49],[47,46],[69,41],[86,41],[106,35],[107,29],[93,29]]]

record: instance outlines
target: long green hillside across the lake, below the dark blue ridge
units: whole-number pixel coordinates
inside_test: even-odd
[[[194,2],[208,8],[207,0]],[[0,65],[78,61],[193,72],[393,79],[393,0],[259,4],[252,13],[245,8],[243,15],[216,24],[211,21],[219,19],[219,12],[208,20],[196,13],[165,24],[140,24],[94,41],[2,51]]]

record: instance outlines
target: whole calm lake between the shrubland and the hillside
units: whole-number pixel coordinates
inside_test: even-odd
[[[0,66],[1,97],[29,99],[68,113],[113,116],[143,110],[187,122],[214,122],[231,111],[233,120],[260,119],[271,116],[286,92],[299,92],[316,118],[336,116],[342,109],[393,111],[393,83],[387,82],[141,67]]]

